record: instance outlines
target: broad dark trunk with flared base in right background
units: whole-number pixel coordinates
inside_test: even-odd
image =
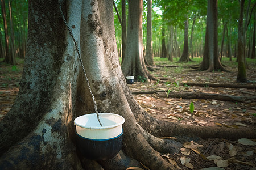
[[[204,57],[199,70],[226,71],[218,57],[217,0],[208,0]]]

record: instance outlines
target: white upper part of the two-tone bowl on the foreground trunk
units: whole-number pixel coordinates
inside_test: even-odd
[[[125,118],[113,113],[98,113],[100,123],[97,119],[97,114],[85,114],[75,118],[77,134],[89,139],[111,139],[122,133],[122,125]]]

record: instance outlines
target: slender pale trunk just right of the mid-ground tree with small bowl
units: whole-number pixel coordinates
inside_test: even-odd
[[[148,65],[154,65],[153,49],[152,49],[152,0],[147,1],[147,47],[146,61]]]

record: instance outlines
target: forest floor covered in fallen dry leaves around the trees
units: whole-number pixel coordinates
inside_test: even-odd
[[[234,59],[233,59],[234,60]],[[191,66],[196,62],[177,63],[166,59],[155,58],[159,67],[152,75],[165,80],[140,82],[129,84],[137,102],[151,116],[160,120],[177,122],[196,126],[221,126],[226,128],[256,129],[256,61],[247,64],[247,79],[250,83],[237,84],[237,63],[225,59],[222,63],[229,66],[230,72],[198,72]],[[9,112],[19,90],[19,81],[22,76],[22,61],[16,67],[0,63],[0,121]],[[188,86],[197,83],[198,86]],[[200,84],[204,84],[203,86]],[[208,85],[209,84],[209,85]],[[230,84],[230,87],[211,87],[210,84]],[[242,85],[232,88],[233,85]],[[246,86],[252,87],[248,88]],[[154,93],[148,91],[155,91]],[[158,92],[156,92],[158,91]],[[148,93],[148,94],[145,94]],[[184,94],[185,97],[180,97]],[[195,94],[200,99],[185,99],[189,94]],[[232,101],[221,100],[210,94],[228,96]],[[176,97],[173,97],[175,96]],[[202,97],[209,95],[206,97]],[[171,97],[172,96],[172,97]],[[238,96],[238,97],[237,97]],[[190,105],[193,102],[194,111],[191,114]],[[181,169],[202,169],[207,167],[222,167],[223,169],[250,169],[256,168],[256,139],[200,139],[187,141],[178,154],[164,154],[172,164]],[[186,162],[186,163],[184,163]],[[217,169],[217,168],[216,168]]]

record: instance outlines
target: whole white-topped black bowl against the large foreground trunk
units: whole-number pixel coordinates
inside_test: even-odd
[[[85,114],[75,119],[77,148],[86,158],[108,160],[113,158],[122,147],[122,124],[125,119],[118,114]]]

